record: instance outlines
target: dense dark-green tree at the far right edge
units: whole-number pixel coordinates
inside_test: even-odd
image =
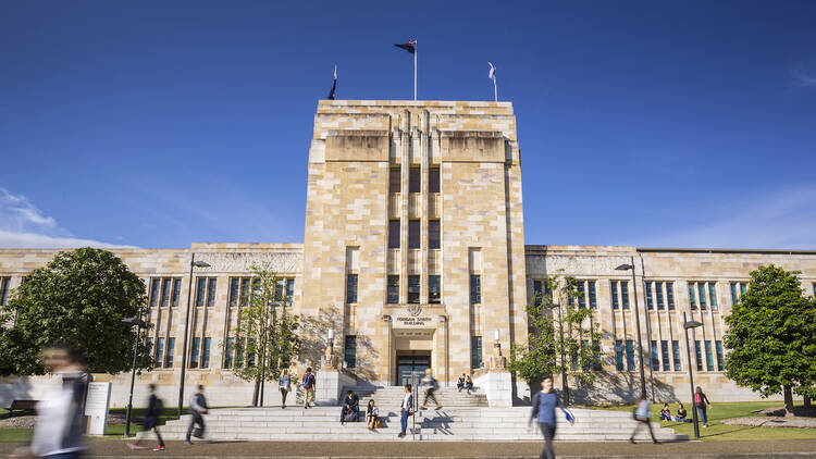
[[[789,415],[794,392],[816,395],[816,300],[804,296],[799,274],[772,264],[752,271],[726,318],[726,374],[763,397],[782,393]]]

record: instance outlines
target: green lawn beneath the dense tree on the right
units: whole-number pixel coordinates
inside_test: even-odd
[[[689,412],[691,419],[691,406],[685,404],[685,410]],[[708,415],[708,426],[703,427],[700,424],[700,438],[703,441],[741,441],[741,439],[816,439],[816,429],[792,429],[792,427],[750,427],[746,425],[728,425],[722,424],[719,421],[729,418],[746,418],[757,415],[752,413],[754,410],[762,410],[765,408],[776,408],[783,406],[782,401],[742,401],[742,402],[721,402],[714,404],[713,408],[709,408],[706,414]],[[617,406],[608,407],[603,409],[616,410],[616,411],[632,411],[633,405],[629,406]],[[655,422],[659,422],[660,426],[670,427],[675,430],[677,434],[689,435],[689,438],[694,438],[694,424],[690,422],[671,422],[671,421],[656,421],[660,419],[660,410],[663,404],[652,404],[650,406],[650,412],[652,419]],[[671,413],[677,413],[677,404],[669,404]]]

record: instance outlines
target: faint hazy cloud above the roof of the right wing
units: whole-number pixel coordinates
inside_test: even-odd
[[[816,249],[816,187],[790,188],[701,212],[693,227],[654,235],[641,247]]]

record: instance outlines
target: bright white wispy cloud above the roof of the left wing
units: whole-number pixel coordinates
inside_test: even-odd
[[[76,248],[128,247],[74,237],[57,221],[45,215],[28,198],[0,187],[0,247]]]

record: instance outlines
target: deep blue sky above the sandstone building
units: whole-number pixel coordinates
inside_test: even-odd
[[[816,249],[816,2],[0,2],[0,247],[302,241],[317,102],[514,103],[527,244]]]

